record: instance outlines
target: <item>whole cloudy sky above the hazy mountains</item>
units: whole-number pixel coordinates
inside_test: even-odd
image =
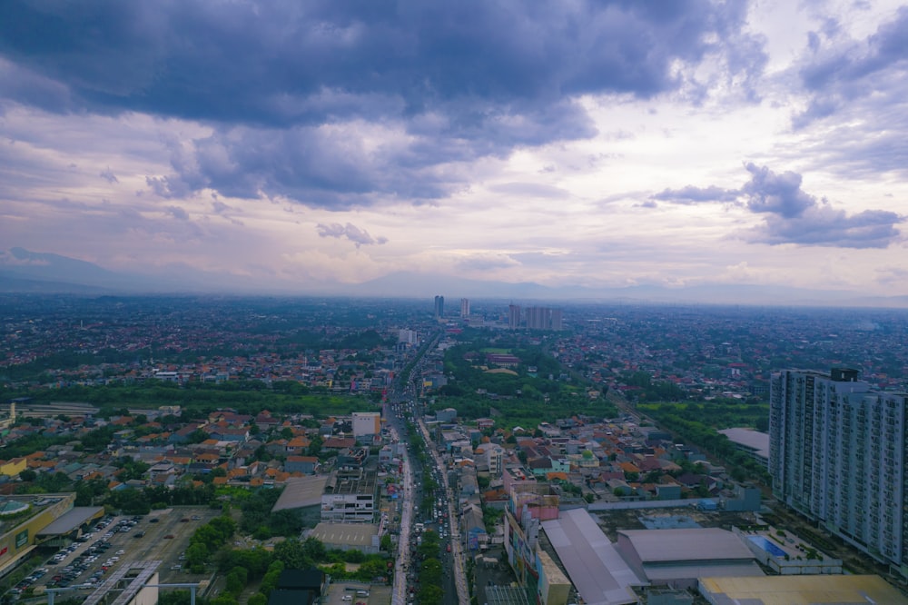
[[[906,40],[884,0],[5,0],[0,249],[905,295]]]

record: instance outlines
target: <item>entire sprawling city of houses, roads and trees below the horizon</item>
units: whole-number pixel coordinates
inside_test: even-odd
[[[898,310],[0,307],[5,600],[905,599]]]

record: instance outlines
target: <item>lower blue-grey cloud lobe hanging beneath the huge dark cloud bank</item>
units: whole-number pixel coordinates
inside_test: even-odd
[[[391,142],[370,147],[347,129],[297,126],[284,130],[237,127],[192,142],[175,144],[174,174],[148,176],[153,193],[164,198],[203,188],[239,198],[286,196],[301,203],[350,208],[373,196],[437,199],[465,179],[451,168],[427,162],[409,146]],[[419,145],[428,142],[416,143]],[[469,150],[454,153],[474,157]]]

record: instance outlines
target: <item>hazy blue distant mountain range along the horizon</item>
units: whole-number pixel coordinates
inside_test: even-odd
[[[301,286],[265,278],[242,278],[173,265],[161,273],[115,273],[94,263],[23,248],[0,251],[0,293],[236,293],[353,296],[386,298],[461,297],[532,301],[653,302],[804,306],[908,307],[908,296],[864,296],[848,291],[809,290],[787,286],[702,284],[681,288],[637,285],[625,288],[553,288],[538,283],[470,280],[434,273],[390,273],[358,284],[320,283]]]

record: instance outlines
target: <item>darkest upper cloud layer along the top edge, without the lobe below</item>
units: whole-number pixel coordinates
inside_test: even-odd
[[[716,50],[708,35],[745,39],[745,5],[731,4],[7,0],[0,50],[94,108],[295,124],[378,114],[371,95],[414,114],[471,97],[651,96],[678,84],[672,62]]]

